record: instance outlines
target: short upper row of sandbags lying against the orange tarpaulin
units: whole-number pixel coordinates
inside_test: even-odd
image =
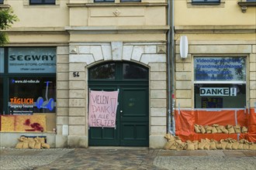
[[[248,131],[246,127],[241,127],[239,124],[235,126],[227,124],[226,127],[219,124],[213,124],[211,126],[195,124],[194,129],[197,134],[244,134]]]

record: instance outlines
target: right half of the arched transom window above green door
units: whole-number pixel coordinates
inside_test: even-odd
[[[147,79],[147,69],[131,63],[123,63],[124,79]]]

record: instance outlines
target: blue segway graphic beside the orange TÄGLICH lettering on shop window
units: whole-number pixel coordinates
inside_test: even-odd
[[[45,92],[45,98],[46,100],[43,101],[43,97],[38,97],[37,100],[36,100],[36,107],[37,108],[46,108],[48,110],[54,110],[54,99],[53,98],[50,98],[48,100],[48,87],[49,87],[49,83],[50,81],[47,81],[47,90]]]

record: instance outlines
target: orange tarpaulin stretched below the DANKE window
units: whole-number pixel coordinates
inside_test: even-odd
[[[194,125],[202,126],[227,124],[245,126],[247,134],[195,134]],[[175,134],[182,141],[195,141],[201,138],[220,139],[234,138],[247,139],[256,142],[256,113],[254,109],[249,110],[175,110]]]

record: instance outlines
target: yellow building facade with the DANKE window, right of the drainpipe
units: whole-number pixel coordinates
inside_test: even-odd
[[[241,4],[247,6],[246,11]],[[255,14],[254,1],[175,2],[176,107],[254,107]],[[189,41],[189,53],[183,59],[181,36],[187,36]],[[233,88],[236,91],[232,94]],[[227,95],[221,94],[224,89],[228,90]]]

